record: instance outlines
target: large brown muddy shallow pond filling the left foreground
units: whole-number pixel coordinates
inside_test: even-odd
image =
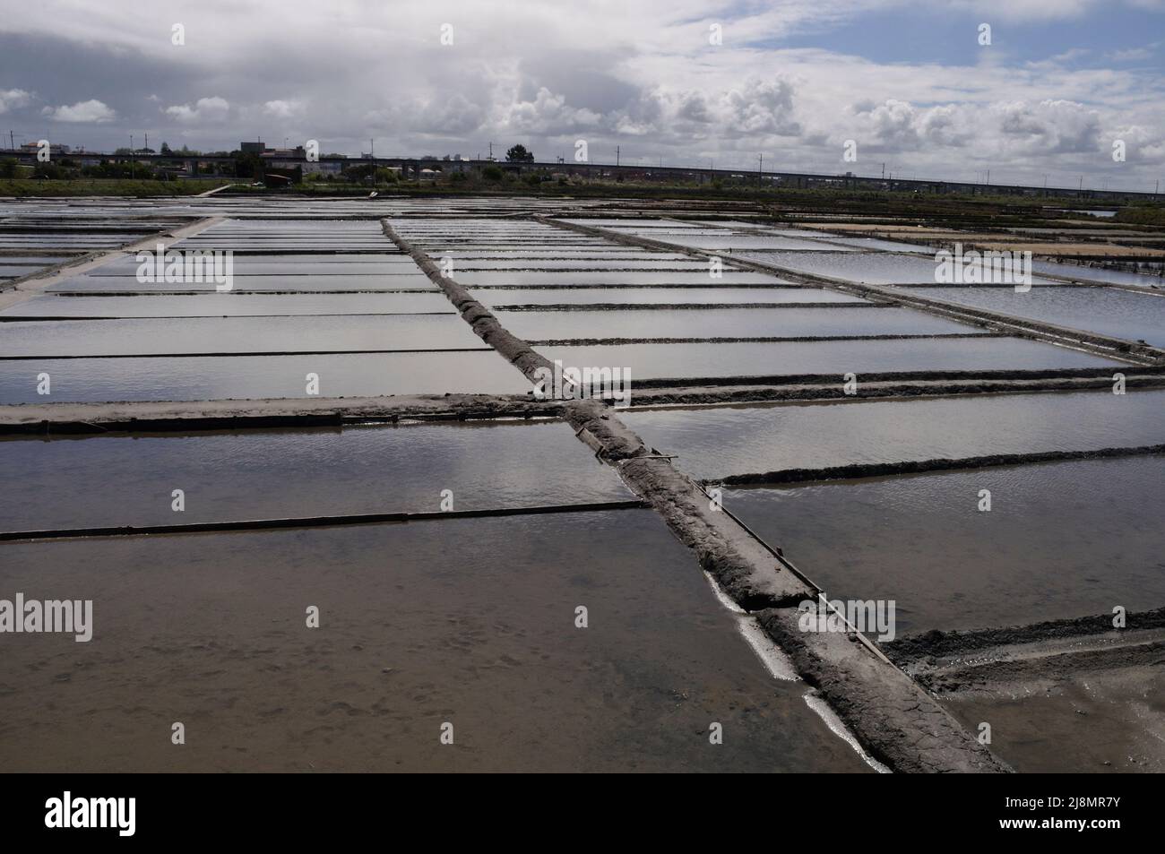
[[[648,510],[8,543],[0,583],[94,623],[8,638],[8,770],[869,770]]]

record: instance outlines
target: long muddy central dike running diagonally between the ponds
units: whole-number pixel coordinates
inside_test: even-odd
[[[553,368],[464,285],[442,275],[433,260],[397,234],[388,219],[381,224],[386,237],[442,289],[478,337],[531,384],[539,379],[538,368]],[[1011,770],[859,633],[802,631],[797,606],[816,599],[820,588],[729,513],[714,509],[699,484],[644,445],[614,410],[584,400],[566,402],[563,411],[576,436],[663,517],[723,592],[758,619],[870,756],[903,772]]]

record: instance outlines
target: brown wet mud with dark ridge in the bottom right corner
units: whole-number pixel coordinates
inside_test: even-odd
[[[1165,608],[981,631],[884,649],[1019,771],[1165,770]],[[1065,744],[1071,750],[1065,750]]]

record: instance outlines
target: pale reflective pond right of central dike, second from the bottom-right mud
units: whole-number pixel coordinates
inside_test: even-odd
[[[701,479],[782,468],[1165,444],[1165,390],[631,410],[643,440]]]

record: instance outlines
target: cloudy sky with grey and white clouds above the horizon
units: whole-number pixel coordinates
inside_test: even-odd
[[[17,144],[1165,177],[1165,0],[0,2]]]

